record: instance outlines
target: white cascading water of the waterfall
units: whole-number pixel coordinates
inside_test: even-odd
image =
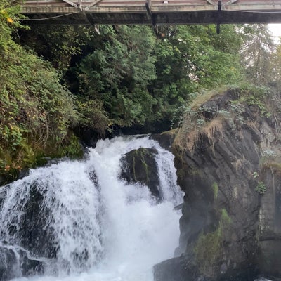
[[[138,148],[158,151],[160,203],[148,188],[120,179],[122,155]],[[118,137],[99,141],[84,161],[31,170],[7,185],[0,192],[4,278],[153,280],[152,266],[178,246],[174,206],[183,195],[173,159],[149,136]],[[28,267],[37,276],[20,277]]]

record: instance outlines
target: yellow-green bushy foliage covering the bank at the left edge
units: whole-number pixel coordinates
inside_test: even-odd
[[[0,8],[5,11],[0,18],[0,170],[13,174],[32,166],[41,150],[51,152],[65,142],[77,112],[58,72],[12,40],[20,27],[17,8],[6,1]]]

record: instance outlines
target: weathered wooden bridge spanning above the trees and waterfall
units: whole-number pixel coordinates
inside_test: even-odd
[[[37,24],[281,23],[281,0],[26,0],[22,13]]]

